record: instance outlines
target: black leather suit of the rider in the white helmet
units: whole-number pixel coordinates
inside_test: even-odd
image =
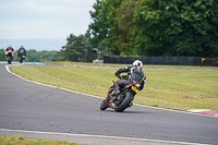
[[[126,86],[130,82],[133,82],[141,85],[141,87],[138,88],[140,90],[144,88],[146,75],[144,74],[142,68],[135,67],[135,65],[129,65],[129,67],[119,69],[114,74],[120,75],[123,72],[128,72],[126,80],[116,82],[114,84],[118,84],[122,88]]]

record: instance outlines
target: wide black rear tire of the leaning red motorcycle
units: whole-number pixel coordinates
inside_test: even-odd
[[[122,112],[124,111],[128,107],[130,107],[130,104],[133,101],[134,95],[132,92],[128,92],[124,100],[119,105],[114,107],[114,110],[117,112]]]

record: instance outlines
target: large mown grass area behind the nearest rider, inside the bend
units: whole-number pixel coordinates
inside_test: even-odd
[[[218,72],[190,69],[145,69],[145,88],[134,102],[182,110],[217,110]],[[105,97],[111,81],[117,80],[113,75],[117,69],[10,67],[10,70],[27,80],[99,97]]]

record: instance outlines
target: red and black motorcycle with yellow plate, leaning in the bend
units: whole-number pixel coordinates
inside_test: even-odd
[[[119,80],[116,82],[119,82],[123,80],[126,76],[118,76]],[[124,88],[120,88],[120,93],[116,95],[116,83],[113,81],[113,84],[110,85],[108,90],[108,97],[104,99],[100,104],[100,110],[104,111],[107,108],[112,108],[117,112],[122,112],[126,108],[131,107],[133,105],[134,96],[138,93],[140,84],[136,83],[129,83]]]

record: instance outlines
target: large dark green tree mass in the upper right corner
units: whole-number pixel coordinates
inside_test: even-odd
[[[152,56],[217,55],[217,1],[143,0],[135,17],[141,51]]]

